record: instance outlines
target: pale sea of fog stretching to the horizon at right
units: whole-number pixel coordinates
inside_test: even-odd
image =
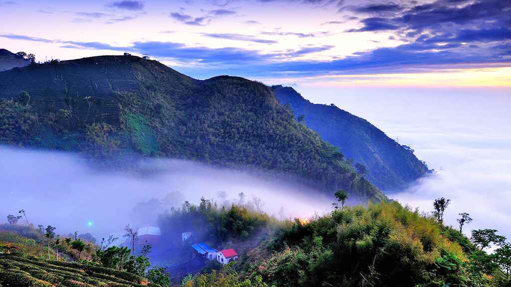
[[[458,213],[463,227],[492,228],[511,242],[511,97],[509,88],[298,88],[314,103],[330,104],[367,119],[409,145],[438,175],[398,194],[402,204],[432,211],[435,198],[452,200],[445,222]]]

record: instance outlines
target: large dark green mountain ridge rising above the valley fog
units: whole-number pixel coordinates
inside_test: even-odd
[[[11,145],[243,166],[342,188],[354,202],[384,198],[271,88],[243,78],[199,81],[157,61],[102,56],[0,72],[0,99],[0,142]]]

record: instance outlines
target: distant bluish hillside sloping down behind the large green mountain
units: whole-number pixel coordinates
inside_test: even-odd
[[[412,150],[401,146],[365,119],[334,105],[313,104],[291,87],[272,87],[278,101],[322,139],[339,148],[353,164],[367,169],[365,177],[384,191],[398,190],[430,171]]]

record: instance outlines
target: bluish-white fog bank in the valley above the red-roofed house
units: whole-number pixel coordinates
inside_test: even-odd
[[[289,218],[331,210],[332,200],[317,190],[248,171],[172,159],[145,160],[140,170],[98,169],[77,154],[0,146],[0,222],[24,209],[34,226],[53,225],[63,235],[90,232],[99,239],[126,224],[153,225],[158,213],[182,200],[221,203],[218,192],[233,202],[240,193],[245,202],[260,198],[262,209],[277,218],[281,210]]]

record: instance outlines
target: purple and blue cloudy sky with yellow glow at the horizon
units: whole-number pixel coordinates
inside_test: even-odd
[[[199,79],[508,86],[502,0],[0,0],[0,46],[37,60],[149,54]]]

